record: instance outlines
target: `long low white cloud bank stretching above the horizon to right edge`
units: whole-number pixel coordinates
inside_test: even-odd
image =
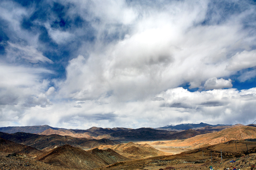
[[[113,98],[62,101],[42,108],[30,107],[20,119],[22,124],[33,121],[51,123],[55,127],[83,129],[97,127],[160,127],[170,123],[248,124],[255,120],[253,104],[256,89],[238,91],[218,89],[189,92],[183,88],[168,89],[156,94],[158,99],[115,101]],[[75,106],[75,107],[74,107]]]

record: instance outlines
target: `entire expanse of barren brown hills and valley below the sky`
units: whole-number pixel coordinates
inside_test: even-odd
[[[175,130],[3,127],[0,168],[255,169],[254,124],[193,125],[198,127]]]

